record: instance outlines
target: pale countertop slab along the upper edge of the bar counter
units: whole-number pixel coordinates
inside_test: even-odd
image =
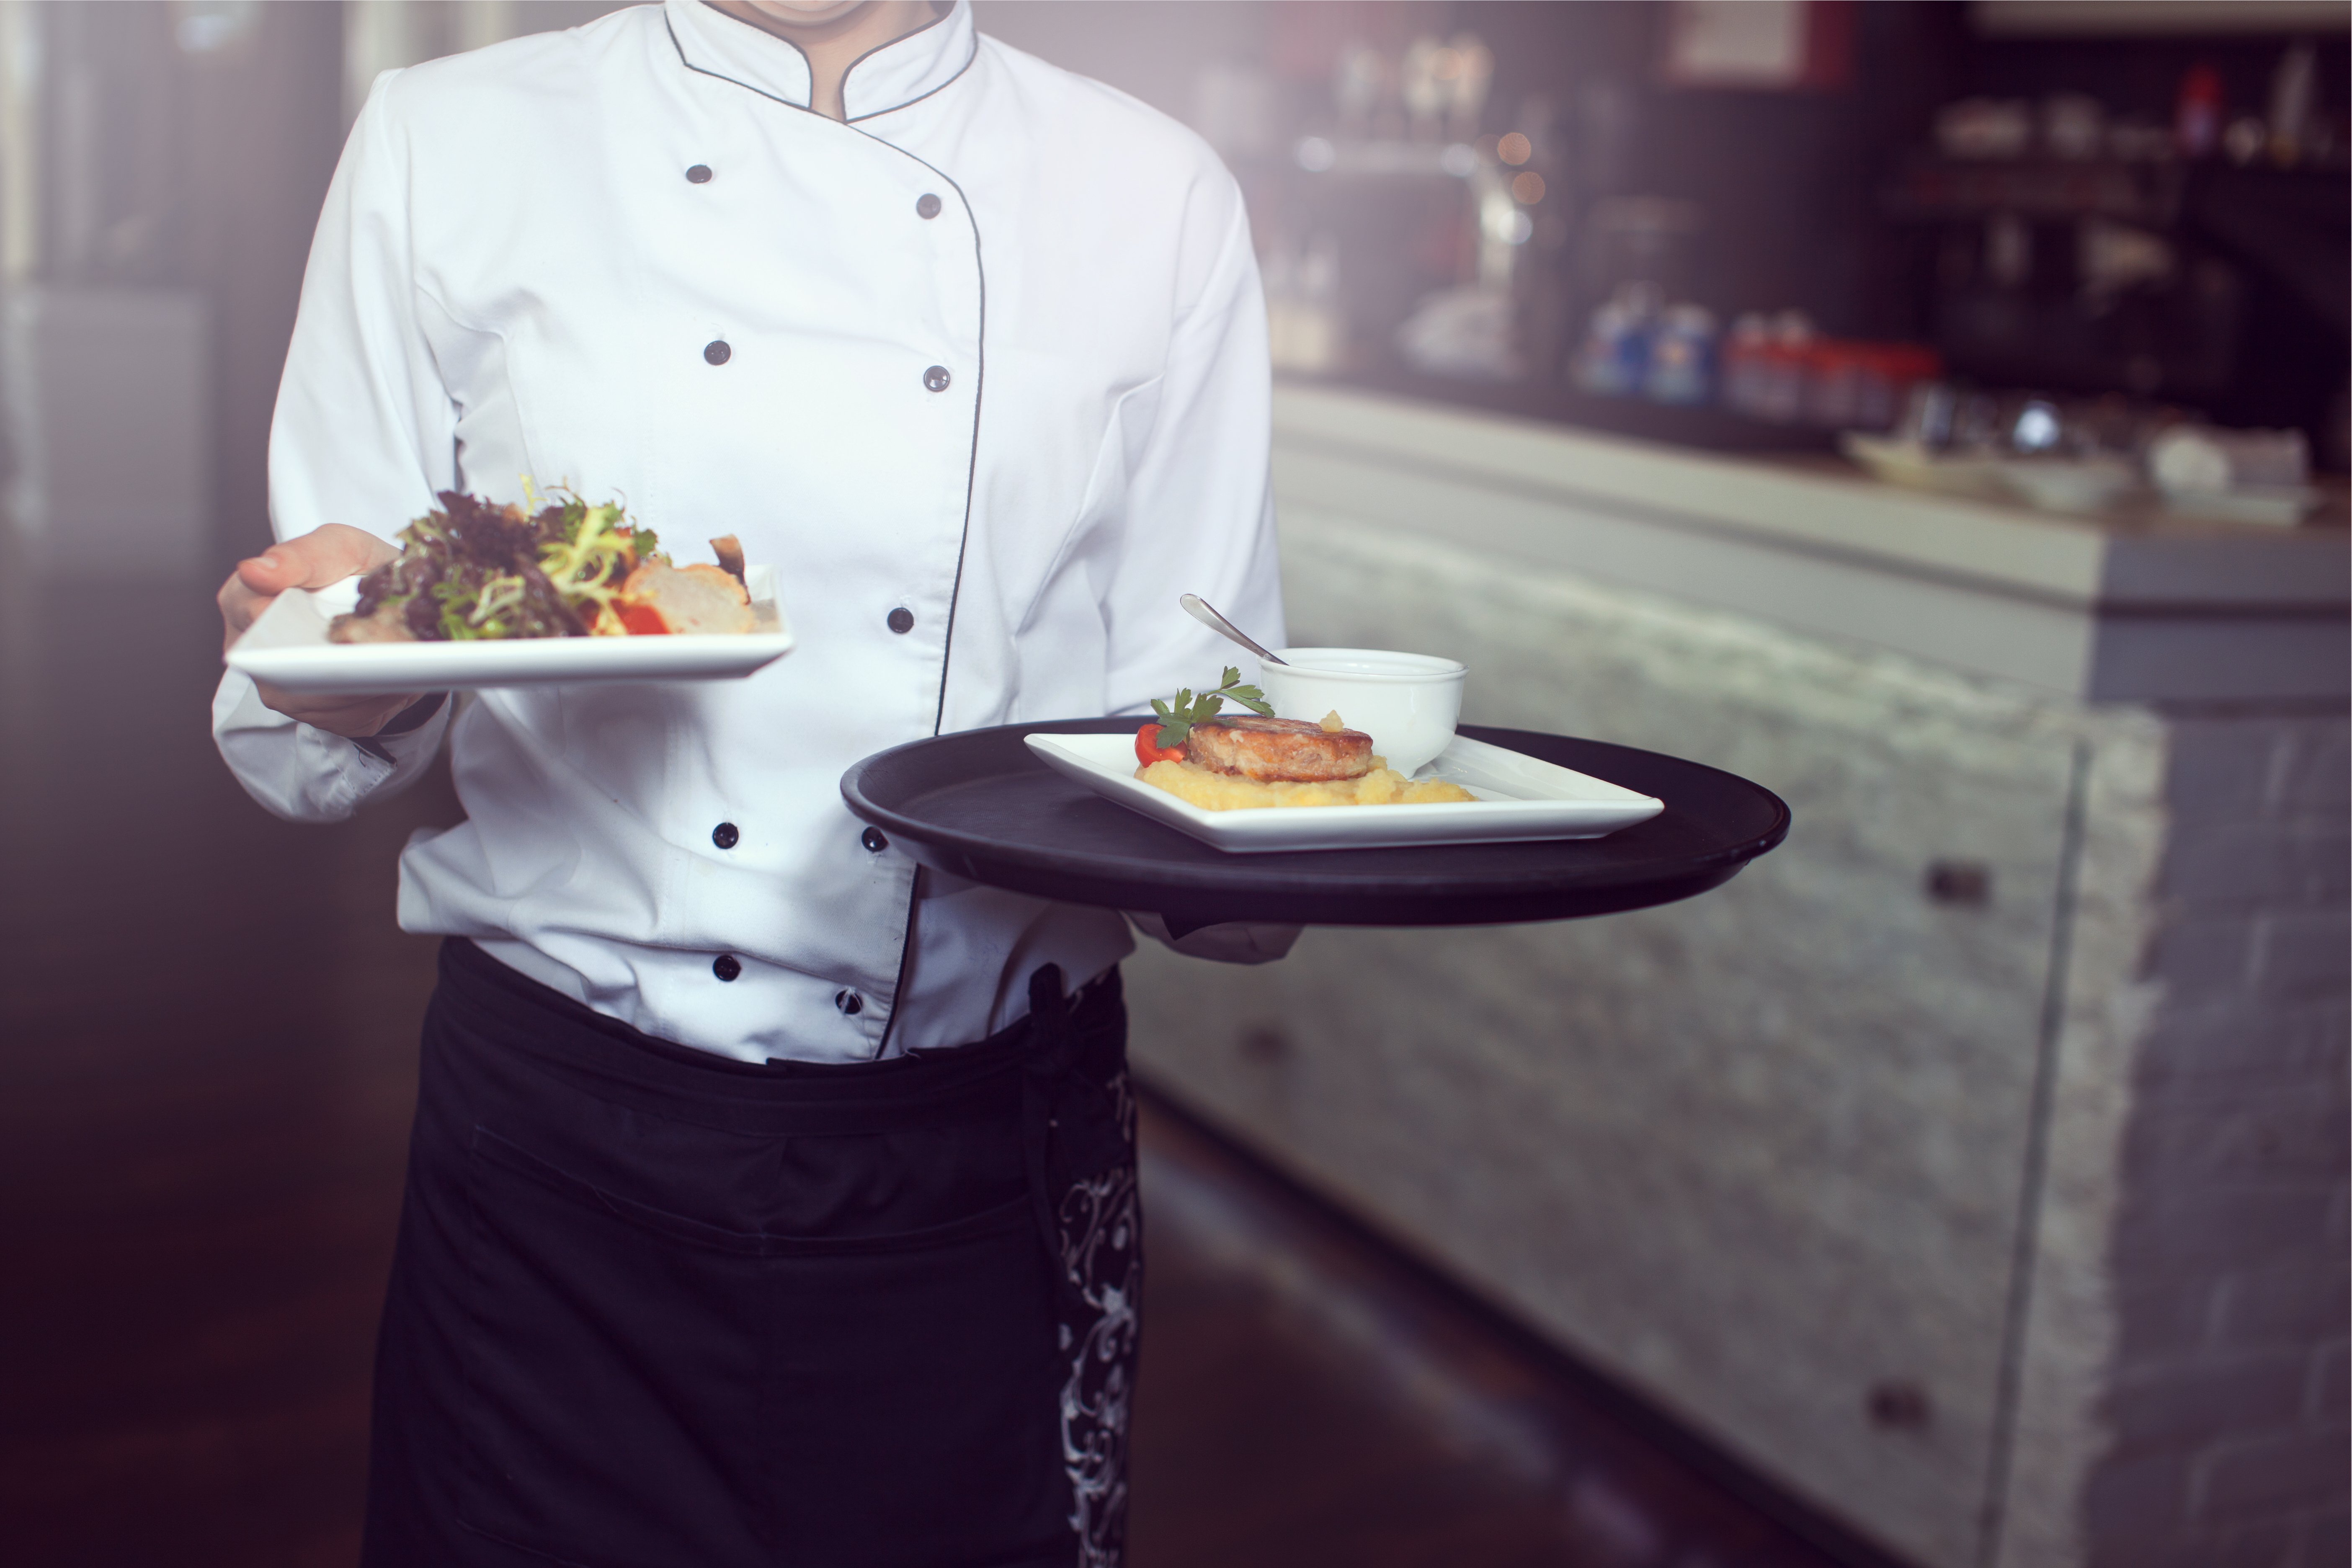
[[[2114,701],[2340,701],[2352,534],[2072,517],[1322,386],[1275,390],[1284,505]]]

